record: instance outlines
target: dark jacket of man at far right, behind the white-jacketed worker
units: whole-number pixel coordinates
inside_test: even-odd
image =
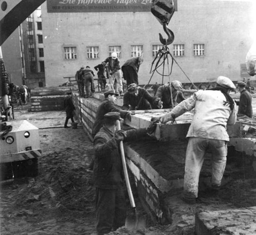
[[[252,117],[251,94],[246,89],[241,91],[238,114]]]

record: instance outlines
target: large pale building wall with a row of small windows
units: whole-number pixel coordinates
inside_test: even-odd
[[[251,1],[178,0],[178,11],[168,24],[175,34],[173,44],[185,44],[185,56],[176,62],[193,82],[214,81],[219,75],[233,81],[246,77],[241,64],[252,44],[253,27]],[[59,86],[63,77],[74,76],[81,65],[94,67],[109,56],[109,46],[121,46],[122,65],[131,56],[131,45],[143,45],[139,83],[147,84],[154,57],[152,45],[161,44],[159,33],[167,37],[151,12],[47,12],[42,5],[45,48],[46,86]],[[172,53],[173,44],[169,45]],[[193,44],[204,44],[205,55],[194,56]],[[98,46],[100,58],[88,59],[86,47]],[[64,47],[77,47],[77,58],[64,59]],[[171,59],[170,59],[171,60]],[[171,80],[190,82],[174,62]],[[167,68],[167,65],[165,66]],[[169,61],[171,70],[171,61]],[[159,72],[162,72],[159,67]],[[166,69],[166,74],[168,70]],[[164,77],[164,82],[168,81]],[[154,74],[150,84],[162,83]]]

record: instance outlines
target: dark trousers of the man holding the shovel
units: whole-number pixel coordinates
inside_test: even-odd
[[[123,186],[116,189],[96,188],[96,229],[98,235],[110,233],[111,229],[124,226],[126,200]]]

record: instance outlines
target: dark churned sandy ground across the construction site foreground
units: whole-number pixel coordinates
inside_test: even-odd
[[[17,109],[16,119],[25,119],[40,129],[42,157],[37,177],[1,184],[1,235],[96,235],[95,190],[88,170],[93,156],[92,143],[81,126],[63,128],[65,112],[28,112]],[[70,123],[69,123],[70,125]],[[125,228],[112,235],[193,235],[194,213],[219,207],[255,205],[256,181],[234,179],[219,198],[205,197],[190,206],[179,193],[171,202],[173,223],[140,231]],[[230,193],[232,198],[230,198]],[[226,198],[225,198],[226,197]],[[137,198],[136,205],[142,211]],[[128,200],[126,201],[129,207]]]

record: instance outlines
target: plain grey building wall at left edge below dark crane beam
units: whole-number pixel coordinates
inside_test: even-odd
[[[2,44],[1,48],[5,68],[9,74],[9,81],[17,85],[22,85],[22,65],[18,28]]]

